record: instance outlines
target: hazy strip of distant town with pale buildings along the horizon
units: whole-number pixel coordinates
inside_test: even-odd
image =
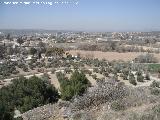
[[[18,39],[23,40],[22,43]],[[0,45],[18,47],[41,47],[58,45],[57,43],[102,43],[106,41],[140,41],[156,39],[160,41],[160,32],[71,32],[71,31],[1,31]],[[75,47],[73,44],[71,47]]]

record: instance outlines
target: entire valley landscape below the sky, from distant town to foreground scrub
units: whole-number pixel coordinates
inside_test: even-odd
[[[0,30],[0,120],[159,120],[159,98],[158,31]]]

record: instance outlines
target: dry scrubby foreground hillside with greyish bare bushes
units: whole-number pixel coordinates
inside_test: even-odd
[[[24,113],[24,120],[159,120],[154,87],[128,87],[114,80],[97,83],[71,102],[59,101]]]

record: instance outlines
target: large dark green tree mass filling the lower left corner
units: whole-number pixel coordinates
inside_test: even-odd
[[[47,80],[20,77],[0,89],[0,120],[12,120],[14,108],[21,113],[48,103],[57,102],[58,91]]]

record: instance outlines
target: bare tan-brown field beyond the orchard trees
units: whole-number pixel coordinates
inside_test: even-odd
[[[145,53],[140,52],[126,52],[126,53],[118,53],[118,52],[101,52],[101,51],[83,51],[83,50],[71,50],[68,51],[72,55],[77,55],[80,53],[82,57],[91,57],[98,59],[106,59],[109,61],[112,60],[123,60],[123,61],[131,61],[135,59],[137,56]],[[160,61],[160,54],[154,54],[154,56]]]

